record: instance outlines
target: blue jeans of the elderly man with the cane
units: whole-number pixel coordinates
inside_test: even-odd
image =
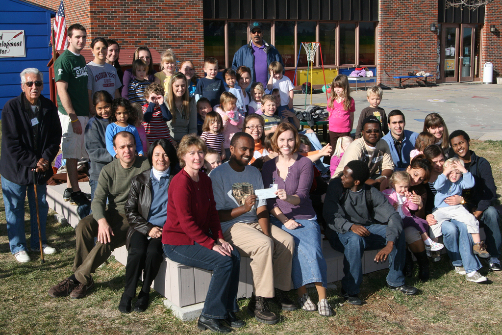
[[[28,251],[25,236],[25,199],[27,191],[31,224],[30,246],[32,249],[35,249],[40,248],[40,242],[38,239],[37,207],[33,185],[18,185],[2,176],[2,193],[4,196],[5,216],[7,219],[7,235],[9,236],[9,244],[13,254],[22,250]],[[49,205],[45,199],[46,194],[47,185],[37,185],[42,244],[47,243],[45,225],[47,222]]]

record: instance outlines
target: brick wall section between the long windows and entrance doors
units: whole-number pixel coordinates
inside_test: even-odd
[[[436,79],[438,36],[430,31],[437,23],[437,0],[380,0],[377,34],[378,80],[388,87],[399,85],[393,76],[426,71]],[[390,77],[384,73],[384,70]],[[415,84],[409,79],[407,84]]]

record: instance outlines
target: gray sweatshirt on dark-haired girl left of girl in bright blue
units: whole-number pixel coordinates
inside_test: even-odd
[[[90,180],[98,180],[99,173],[103,166],[113,160],[113,157],[111,157],[108,150],[106,150],[105,132],[106,126],[109,124],[110,121],[108,119],[96,116],[90,118],[85,127],[84,145],[90,160]]]

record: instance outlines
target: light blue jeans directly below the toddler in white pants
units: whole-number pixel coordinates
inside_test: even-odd
[[[482,268],[481,263],[472,252],[474,243],[463,222],[443,221],[441,232],[443,233],[443,244],[453,266],[463,266],[465,273]]]

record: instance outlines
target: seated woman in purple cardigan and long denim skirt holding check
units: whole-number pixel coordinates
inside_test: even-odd
[[[291,234],[295,240],[292,279],[298,304],[323,316],[334,312],[327,300],[327,268],[322,254],[321,230],[312,207],[309,190],[314,178],[312,161],[296,152],[300,147],[298,131],[281,123],[272,137],[272,150],[279,156],[263,165],[263,184],[275,184],[278,198],[268,199],[271,223]],[[310,299],[305,285],[314,283],[319,302]]]

